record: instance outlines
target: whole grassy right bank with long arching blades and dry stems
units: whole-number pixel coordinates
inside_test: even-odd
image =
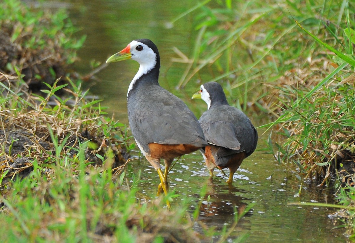
[[[198,35],[180,87],[196,76],[218,81],[236,106],[270,114],[275,121],[261,127],[279,163],[300,184],[334,186],[353,215],[354,2],[205,1],[186,14],[195,9]]]

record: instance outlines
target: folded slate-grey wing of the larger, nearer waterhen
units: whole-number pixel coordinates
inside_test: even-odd
[[[140,107],[129,108],[135,139],[142,146],[152,142],[204,146],[202,128],[186,104],[166,90],[160,90],[159,98],[151,97],[141,102]]]

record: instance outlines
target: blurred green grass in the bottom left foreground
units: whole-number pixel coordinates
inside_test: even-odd
[[[84,158],[85,145],[80,153]],[[166,211],[160,200],[137,203],[139,178],[126,183],[124,173],[100,171],[85,161],[71,169],[34,161],[28,177],[9,183],[1,196],[0,226],[5,242],[199,242],[184,209]],[[77,170],[76,170],[77,169]]]

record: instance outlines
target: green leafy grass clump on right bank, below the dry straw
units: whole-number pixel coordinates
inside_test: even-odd
[[[289,90],[297,100],[284,103],[279,133],[287,139],[277,144],[278,152],[273,150],[278,161],[293,161],[306,179],[324,183],[338,175],[354,185],[354,85],[329,84],[310,98]]]

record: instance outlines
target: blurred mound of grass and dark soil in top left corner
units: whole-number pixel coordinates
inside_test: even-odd
[[[76,29],[64,11],[44,12],[19,0],[0,3],[0,70],[15,75],[15,67],[31,90],[64,83],[69,64],[76,60],[85,37],[72,37]],[[4,81],[2,79],[1,81]]]

